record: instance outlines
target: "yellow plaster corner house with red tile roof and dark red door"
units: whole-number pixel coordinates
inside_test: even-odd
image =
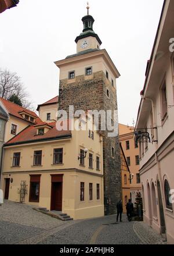
[[[85,148],[86,158],[78,159]],[[3,150],[1,187],[6,199],[74,219],[104,215],[103,137],[97,131],[80,126],[79,131],[58,131],[56,122],[44,122],[28,126]],[[27,189],[24,197],[22,188]]]

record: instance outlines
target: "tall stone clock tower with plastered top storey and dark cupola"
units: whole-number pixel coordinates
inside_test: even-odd
[[[77,54],[55,62],[60,69],[59,110],[68,112],[69,105],[74,105],[74,111],[117,111],[119,72],[106,49],[100,49],[102,41],[93,31],[94,21],[88,7],[88,14],[82,18],[84,30],[75,39]],[[121,199],[119,138],[108,137],[107,130],[102,133],[105,214],[114,214]]]

